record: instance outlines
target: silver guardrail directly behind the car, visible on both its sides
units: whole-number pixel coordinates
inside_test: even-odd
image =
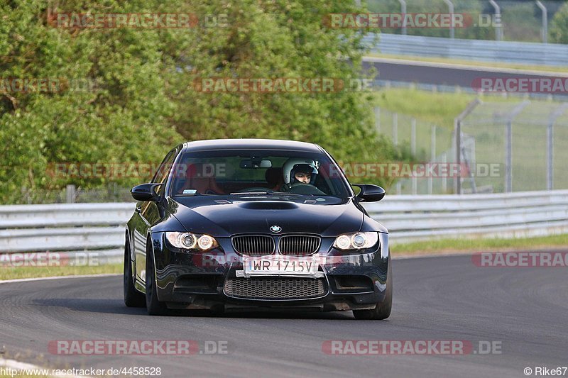
[[[365,207],[394,243],[568,233],[568,190],[386,196]],[[119,262],[133,210],[133,203],[0,206],[0,253],[97,252],[102,263]]]

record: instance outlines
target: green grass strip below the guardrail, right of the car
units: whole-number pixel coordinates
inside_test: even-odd
[[[521,239],[442,239],[391,246],[393,255],[435,255],[444,252],[480,252],[498,250],[539,250],[567,248],[568,234]]]

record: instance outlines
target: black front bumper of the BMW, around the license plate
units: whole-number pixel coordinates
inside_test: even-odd
[[[317,278],[241,277],[243,258],[232,249],[229,238],[217,239],[224,250],[218,254],[175,252],[165,243],[164,233],[153,233],[152,238],[158,299],[169,308],[293,307],[343,311],[375,308],[386,293],[390,267],[386,233],[379,233],[378,248],[359,255],[339,253],[331,247],[334,238],[322,238],[320,251],[315,255],[320,265]],[[244,292],[238,290],[242,287],[246,287]],[[275,296],[266,294],[267,288],[275,287],[283,291]],[[309,295],[287,289],[293,287],[305,287]]]

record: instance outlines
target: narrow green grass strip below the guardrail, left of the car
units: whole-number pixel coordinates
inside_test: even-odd
[[[0,267],[0,281],[4,279],[111,273],[122,273],[122,264],[99,265],[96,267]]]

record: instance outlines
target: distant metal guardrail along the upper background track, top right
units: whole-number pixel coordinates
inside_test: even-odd
[[[447,57],[481,62],[524,65],[568,65],[568,46],[551,43],[506,42],[496,40],[461,40],[416,35],[366,35],[364,42],[373,52],[389,55]]]

